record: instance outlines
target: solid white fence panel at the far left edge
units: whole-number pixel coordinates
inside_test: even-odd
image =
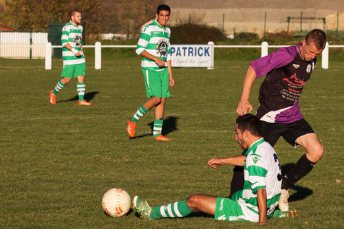
[[[47,32],[0,32],[1,58],[45,58]]]

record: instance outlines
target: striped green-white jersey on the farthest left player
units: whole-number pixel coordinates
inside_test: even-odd
[[[77,65],[79,63],[85,63],[85,57],[81,51],[81,45],[83,45],[83,26],[73,25],[72,21],[69,21],[69,23],[65,24],[62,29],[61,43],[63,46],[63,65]],[[65,47],[67,44],[80,51],[81,56],[75,56],[72,51]]]

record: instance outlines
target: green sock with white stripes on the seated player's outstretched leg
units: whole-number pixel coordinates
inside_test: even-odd
[[[175,218],[175,217],[186,217],[191,214],[193,210],[186,204],[186,200],[175,202],[173,204],[163,205],[151,210],[151,219],[159,218]]]

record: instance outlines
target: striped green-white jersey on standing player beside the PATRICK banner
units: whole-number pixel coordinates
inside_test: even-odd
[[[162,28],[159,23],[155,20],[143,28],[138,40],[138,46],[136,46],[136,53],[140,55],[142,52],[146,51],[153,56],[158,56],[165,62],[171,60],[171,50],[170,50],[170,38],[171,30],[165,25]],[[142,57],[141,66],[147,70],[161,70],[164,67],[159,67],[155,61],[149,60]]]

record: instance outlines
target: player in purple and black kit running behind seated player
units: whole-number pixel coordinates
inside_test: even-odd
[[[279,208],[283,211],[289,208],[288,189],[310,173],[323,156],[323,145],[300,113],[299,97],[310,79],[316,56],[323,52],[326,41],[322,30],[312,30],[298,45],[283,47],[250,63],[244,78],[237,114],[242,116],[247,110],[252,111],[252,105],[248,102],[250,90],[255,78],[266,74],[259,89],[260,105],[256,114],[261,120],[264,140],[274,146],[282,136],[292,146],[301,145],[306,150],[292,171],[283,177],[279,200]],[[230,197],[244,184],[242,171],[240,167],[234,168]]]

